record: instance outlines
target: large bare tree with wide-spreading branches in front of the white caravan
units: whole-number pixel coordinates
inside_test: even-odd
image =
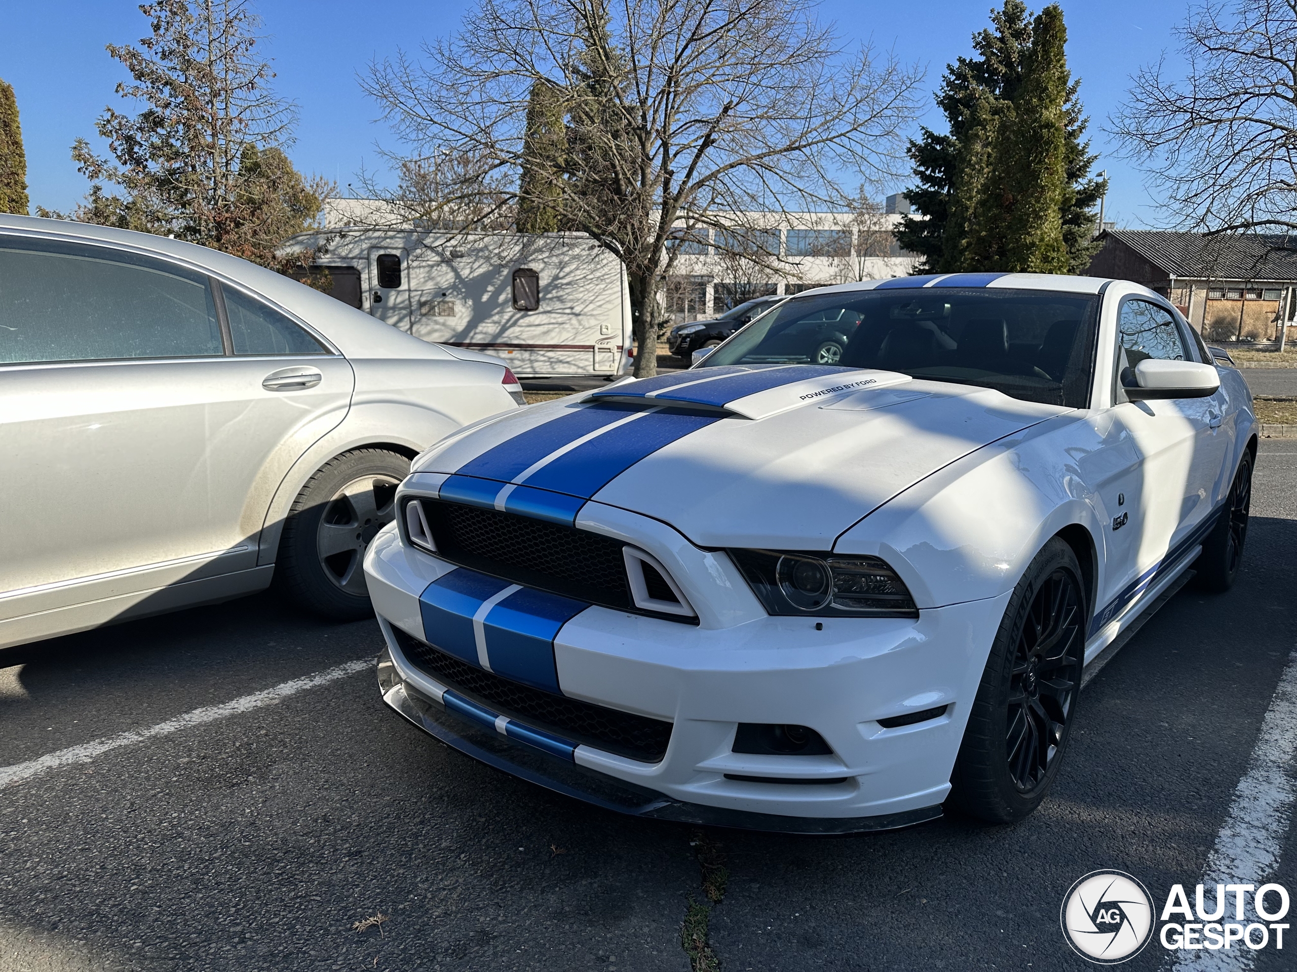
[[[625,263],[643,376],[673,231],[837,200],[839,172],[894,174],[920,76],[846,52],[811,0],[480,0],[454,38],[374,64],[363,83],[407,157],[480,161],[440,200],[473,222],[519,205],[528,104],[533,86],[553,87],[565,188],[534,202]],[[484,205],[482,187],[507,191]]]

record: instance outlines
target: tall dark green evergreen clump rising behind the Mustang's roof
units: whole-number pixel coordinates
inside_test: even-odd
[[[1048,13],[1049,9],[1053,13]],[[1041,27],[1057,35],[1047,44],[1048,57],[1043,52],[1032,54],[1032,35]],[[1031,165],[1013,161],[1010,146],[1017,146],[1029,157],[1038,154],[1040,146],[1025,140],[1022,132],[1032,126],[1039,131],[1045,115],[1053,118],[1053,109],[1047,108],[1041,98],[1048,93],[1056,100],[1060,78],[1064,89],[1064,185],[1061,194],[1053,198],[1058,201],[1058,223],[1066,251],[1062,272],[1079,273],[1089,263],[1097,249],[1092,238],[1095,209],[1106,184],[1089,176],[1096,157],[1084,139],[1088,119],[1077,97],[1079,82],[1071,82],[1066,73],[1061,48],[1064,39],[1062,13],[1056,6],[1047,8],[1032,25],[1022,0],[1005,0],[1000,10],[992,12],[991,27],[973,35],[975,56],[960,57],[947,67],[936,104],[946,115],[949,131],[942,135],[923,128],[920,140],[910,141],[909,156],[918,185],[905,194],[920,215],[905,216],[896,232],[901,246],[925,258],[929,272],[981,268],[990,259],[1008,258],[1003,244],[986,237],[987,232],[994,233],[995,227],[983,224],[984,228],[978,229],[970,220],[975,219],[975,210],[987,213],[987,218],[996,218],[990,215],[994,207],[990,211],[986,209],[991,189],[983,181],[988,175],[1009,179],[1013,185],[1025,184],[1023,179],[1030,183],[1025,172],[1031,170]],[[1027,75],[1038,69],[1049,75],[1048,83],[1036,79],[1029,84]],[[1023,98],[1030,98],[1031,105],[1019,104]],[[1006,175],[1006,166],[1016,175]],[[1003,194],[1000,205],[1005,205]],[[1036,210],[1034,205],[1029,209]],[[1039,237],[1032,238],[1039,242]],[[970,245],[975,258],[970,257]],[[1047,244],[1051,253],[1052,248],[1052,242]],[[1021,255],[1021,248],[1017,251]],[[1026,262],[1041,266],[1035,257]],[[1056,254],[1047,263],[1060,266]]]

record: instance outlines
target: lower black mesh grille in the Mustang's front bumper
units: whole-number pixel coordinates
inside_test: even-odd
[[[475,667],[392,629],[411,665],[501,715],[630,759],[655,763],[667,753],[672,724],[542,692]]]

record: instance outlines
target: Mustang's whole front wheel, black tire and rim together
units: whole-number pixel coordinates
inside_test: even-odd
[[[949,801],[965,814],[1016,823],[1058,775],[1080,695],[1084,590],[1057,537],[1013,588],[951,775]]]

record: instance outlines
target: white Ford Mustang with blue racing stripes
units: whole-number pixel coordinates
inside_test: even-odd
[[[366,557],[384,699],[628,813],[1021,819],[1086,664],[1187,569],[1232,583],[1254,428],[1239,372],[1135,284],[812,290],[700,367],[416,459]]]

